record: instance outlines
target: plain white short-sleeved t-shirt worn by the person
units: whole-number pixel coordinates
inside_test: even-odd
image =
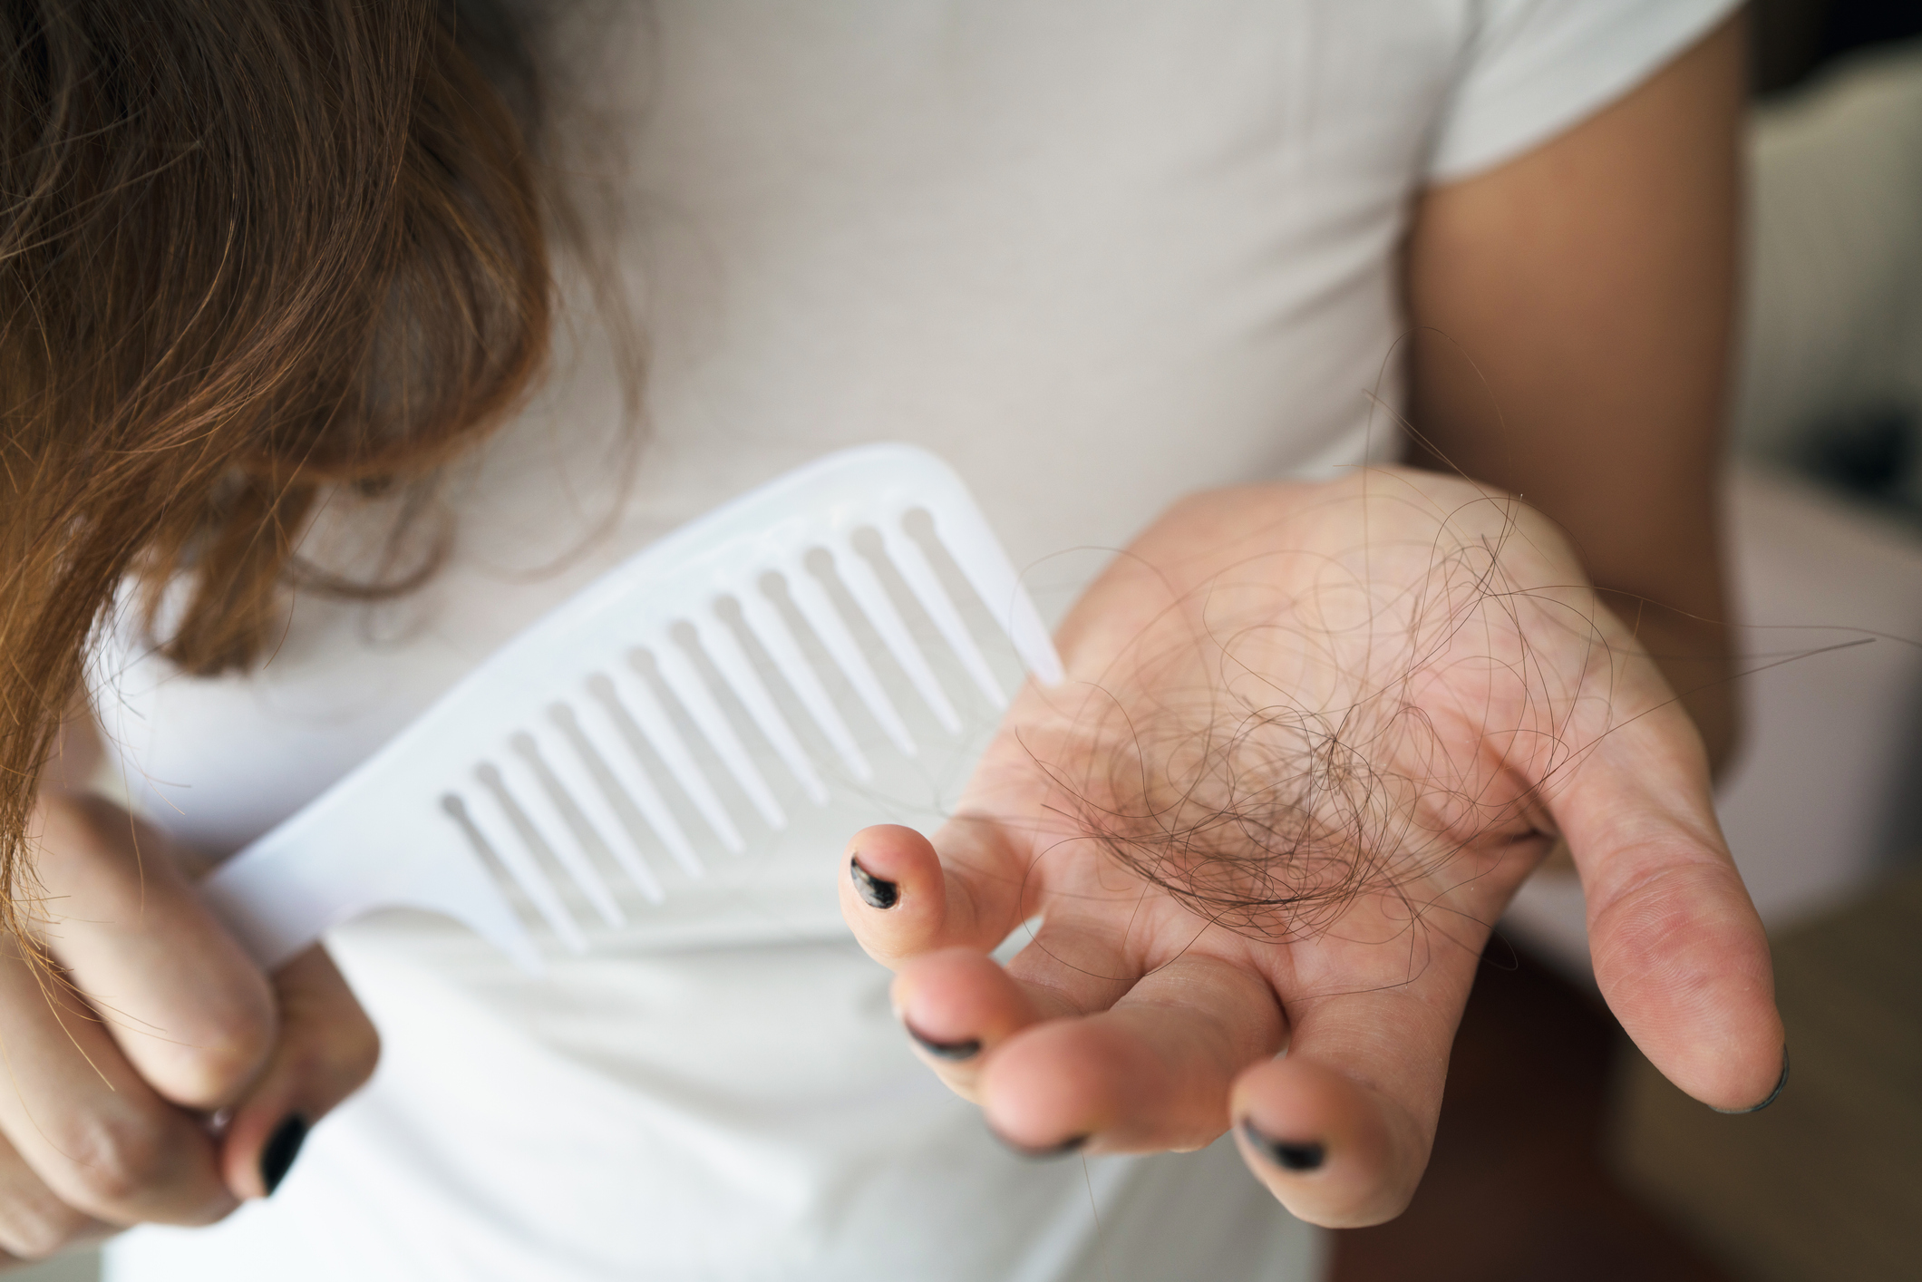
[[[254,677],[104,655],[133,790],[234,850],[596,573],[840,446],[949,459],[1055,611],[1105,555],[1071,550],[1186,492],[1392,452],[1413,196],[1566,129],[1730,8],[619,8],[579,79],[627,163],[619,265],[652,361],[632,482],[605,479],[615,382],[563,342],[540,400],[454,469],[459,544],[427,590],[300,600]],[[319,554],[344,557],[327,525]],[[1311,1276],[1317,1236],[1226,1144],[1028,1163],[907,1051],[838,855],[867,823],[932,825],[971,752],[798,801],[700,882],[663,867],[663,905],[632,900],[546,978],[436,919],[338,930],[382,1030],[373,1084],[271,1201],[138,1230],[110,1276]]]

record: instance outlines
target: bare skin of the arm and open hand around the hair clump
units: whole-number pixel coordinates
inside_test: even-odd
[[[1540,150],[1424,192],[1405,261],[1424,327],[1417,461],[1482,484],[1380,471],[1176,505],[1071,613],[1069,682],[1021,696],[955,821],[932,838],[855,836],[898,901],[873,907],[844,878],[850,926],[898,973],[911,1032],[980,1044],[924,1057],[1011,1146],[1190,1149],[1245,1122],[1324,1147],[1320,1169],[1290,1172],[1240,1138],[1295,1215],[1392,1219],[1428,1161],[1488,926],[1557,838],[1582,876],[1595,976],[1641,1051],[1720,1109],[1774,1092],[1786,1059],[1766,942],[1711,803],[1711,761],[1736,736],[1716,461],[1739,104],[1732,23]],[[1482,500],[1503,492],[1536,511]],[[1326,630],[1330,567],[1395,600],[1434,573],[1407,548],[1486,546],[1518,592],[1484,604],[1451,663],[1411,688],[1440,738],[1417,736],[1432,750],[1418,761],[1401,759],[1407,736],[1370,748],[1378,769],[1513,801],[1478,834],[1445,798],[1415,801],[1432,830],[1472,838],[1445,863],[1274,942],[1209,925],[1074,840],[1061,811],[1090,788],[1097,805],[1142,807],[1122,773],[1086,769],[1130,752],[1117,723],[1249,675],[1270,702],[1336,715],[1397,675],[1384,655],[1415,648],[1393,623],[1301,640]],[[1194,657],[1170,659],[1184,644]],[[1499,665],[1459,661],[1478,657]],[[1570,696],[1603,688],[1607,717]],[[1528,750],[1490,732],[1515,727],[1553,730],[1563,755],[1540,750],[1547,734]],[[1155,759],[1153,742],[1134,752]],[[1395,857],[1363,846],[1349,853]],[[988,959],[1034,915],[1005,969]]]

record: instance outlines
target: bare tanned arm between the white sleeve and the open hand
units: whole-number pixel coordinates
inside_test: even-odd
[[[1741,31],[1417,210],[1413,461],[1520,494],[1578,548],[1724,761],[1720,546]]]

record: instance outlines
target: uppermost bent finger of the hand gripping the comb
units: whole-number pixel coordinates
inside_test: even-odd
[[[37,871],[46,944],[127,1063],[163,1099],[231,1105],[273,1046],[273,992],[165,838],[100,798],[50,800]]]

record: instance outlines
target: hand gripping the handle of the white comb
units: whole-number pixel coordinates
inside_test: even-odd
[[[6,1263],[263,1197],[275,1128],[323,1117],[379,1057],[327,953],[263,974],[194,894],[190,851],[86,790],[98,757],[73,721],[35,817],[46,959],[0,953]]]

